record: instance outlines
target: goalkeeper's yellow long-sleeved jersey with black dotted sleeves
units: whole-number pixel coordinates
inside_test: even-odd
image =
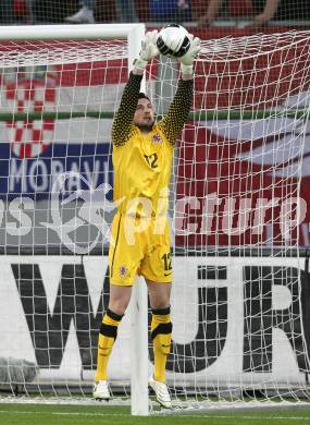
[[[148,134],[134,125],[140,90],[140,75],[131,73],[112,126],[114,201],[122,214],[156,216],[159,198],[166,196],[170,184],[173,148],[188,117],[193,99],[193,80],[181,80],[166,116]],[[138,201],[136,201],[138,199]],[[160,214],[165,214],[162,210]]]

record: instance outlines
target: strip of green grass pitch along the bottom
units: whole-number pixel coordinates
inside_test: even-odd
[[[310,409],[201,412],[183,415],[131,416],[128,406],[76,406],[42,404],[0,404],[2,425],[305,425]]]

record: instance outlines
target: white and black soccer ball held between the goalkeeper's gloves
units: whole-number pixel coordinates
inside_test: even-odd
[[[190,47],[189,34],[182,25],[166,25],[159,32],[157,47],[162,54],[182,58]]]

